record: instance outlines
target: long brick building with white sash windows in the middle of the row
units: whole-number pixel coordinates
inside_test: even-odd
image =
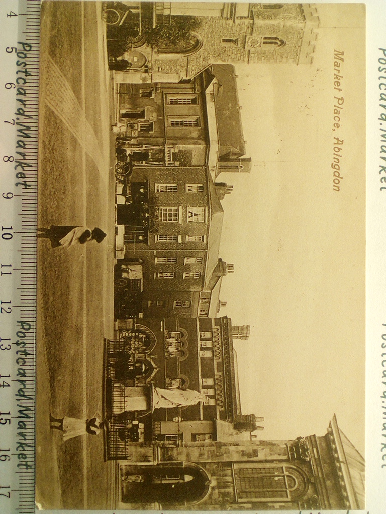
[[[204,166],[138,166],[131,189],[117,205],[115,318],[216,316],[233,272],[219,257],[227,186]]]

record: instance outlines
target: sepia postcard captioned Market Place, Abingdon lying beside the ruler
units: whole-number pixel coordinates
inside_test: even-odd
[[[365,27],[42,2],[38,508],[365,509]]]

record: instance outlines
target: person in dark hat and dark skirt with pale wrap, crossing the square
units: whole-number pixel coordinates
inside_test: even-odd
[[[46,238],[51,242],[51,248],[71,248],[76,245],[84,245],[89,241],[101,243],[106,234],[95,227],[91,230],[88,227],[74,225],[51,225],[49,229],[38,228],[38,238]]]

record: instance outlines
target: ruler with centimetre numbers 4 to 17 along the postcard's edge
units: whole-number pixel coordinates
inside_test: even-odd
[[[0,512],[35,512],[40,0],[0,3]]]

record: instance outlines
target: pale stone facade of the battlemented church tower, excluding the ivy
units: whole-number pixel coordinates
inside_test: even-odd
[[[162,82],[169,77],[178,82],[215,63],[311,64],[319,25],[315,8],[309,4],[242,4],[243,15],[238,16],[237,7],[229,15],[229,5],[237,4],[224,3],[228,16],[208,16],[205,11],[198,16],[200,44],[195,51],[173,53],[145,45],[140,50],[147,59],[146,73],[141,79],[140,70],[121,75],[131,76],[127,80],[132,81]]]

